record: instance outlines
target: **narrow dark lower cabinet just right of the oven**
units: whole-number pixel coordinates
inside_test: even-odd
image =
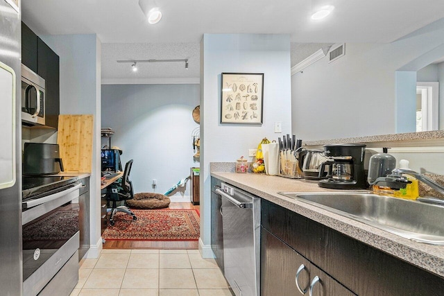
[[[89,250],[90,236],[89,236],[89,177],[80,180],[82,187],[80,187],[80,196],[78,204],[80,211],[78,212],[78,226],[80,229],[80,248],[78,249],[78,260],[85,256]]]

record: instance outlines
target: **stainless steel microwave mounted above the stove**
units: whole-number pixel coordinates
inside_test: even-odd
[[[22,122],[44,125],[44,79],[22,64]]]

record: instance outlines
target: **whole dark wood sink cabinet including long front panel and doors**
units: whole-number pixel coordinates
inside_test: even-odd
[[[293,255],[293,250],[309,261],[310,280],[314,275],[314,266],[356,295],[444,295],[444,277],[418,268],[273,202],[262,200],[261,205],[262,295],[289,295],[287,290],[272,293],[270,286],[274,284],[278,289],[280,284],[287,286],[290,285],[286,284],[287,281],[295,279],[294,269],[298,268],[298,262],[291,263],[290,258],[296,256]],[[275,238],[270,238],[271,234]],[[282,280],[282,283],[280,281],[284,275],[278,272],[280,266],[284,266],[291,274],[290,279]],[[325,282],[324,275],[324,279],[319,277]],[[302,283],[301,279],[300,285],[303,284],[306,285],[306,281]],[[316,286],[314,289],[316,290]],[[342,295],[328,290],[326,293],[324,295]]]

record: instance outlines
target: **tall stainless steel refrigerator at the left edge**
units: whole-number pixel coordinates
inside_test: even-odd
[[[21,14],[0,0],[0,287],[22,295]]]

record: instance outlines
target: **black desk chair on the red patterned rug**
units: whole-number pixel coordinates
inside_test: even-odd
[[[108,186],[106,199],[108,200],[108,207],[111,207],[110,225],[114,225],[114,215],[119,211],[133,216],[133,220],[137,219],[135,214],[130,211],[128,207],[117,207],[117,202],[130,200],[134,196],[133,182],[129,179],[131,166],[133,166],[133,159],[125,164],[125,171],[123,171],[121,179]]]

